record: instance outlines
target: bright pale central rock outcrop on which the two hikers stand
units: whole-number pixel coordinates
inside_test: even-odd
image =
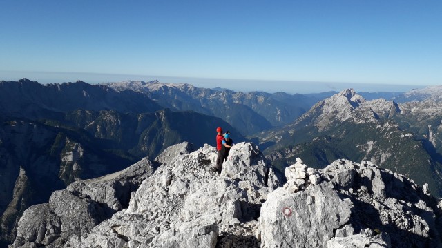
[[[253,165],[268,174],[269,164],[255,145],[240,143],[231,153],[239,174],[253,171]],[[230,177],[228,166],[218,176],[211,171],[216,151],[209,145],[175,154],[144,180],[127,209],[71,240],[71,247],[215,247],[233,242],[258,246],[253,234],[258,228],[256,206],[272,190],[261,180],[267,176]]]

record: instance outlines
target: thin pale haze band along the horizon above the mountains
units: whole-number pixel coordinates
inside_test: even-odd
[[[119,75],[98,73],[68,73],[68,72],[2,72],[0,81],[18,81],[29,79],[41,84],[68,83],[84,81],[90,84],[115,83],[121,81],[153,81],[160,83],[188,83],[195,87],[233,90],[236,92],[286,92],[288,94],[310,94],[320,92],[340,92],[347,88],[353,88],[356,92],[408,92],[416,88],[431,85],[392,85],[380,83],[340,83],[340,82],[311,82],[311,81],[278,81],[278,80],[246,80],[246,79],[204,79],[185,78],[173,76],[148,76],[148,75]]]

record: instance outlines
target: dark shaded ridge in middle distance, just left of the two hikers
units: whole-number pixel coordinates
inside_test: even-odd
[[[166,147],[183,141],[192,141],[195,146],[204,143],[216,145],[216,125],[229,130],[235,142],[247,140],[220,118],[191,111],[173,112],[165,109],[153,113],[122,114],[78,110],[70,112],[66,121],[86,130],[103,149],[124,151],[137,158],[155,158]]]

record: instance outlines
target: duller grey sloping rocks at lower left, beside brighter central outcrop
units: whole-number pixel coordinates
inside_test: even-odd
[[[121,172],[77,181],[54,192],[49,203],[26,209],[11,247],[63,247],[72,236],[87,233],[126,208],[131,192],[156,167],[144,158]]]

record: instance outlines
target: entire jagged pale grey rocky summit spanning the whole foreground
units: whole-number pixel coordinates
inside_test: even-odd
[[[427,185],[362,161],[279,174],[253,143],[189,143],[27,209],[10,247],[442,247]]]

